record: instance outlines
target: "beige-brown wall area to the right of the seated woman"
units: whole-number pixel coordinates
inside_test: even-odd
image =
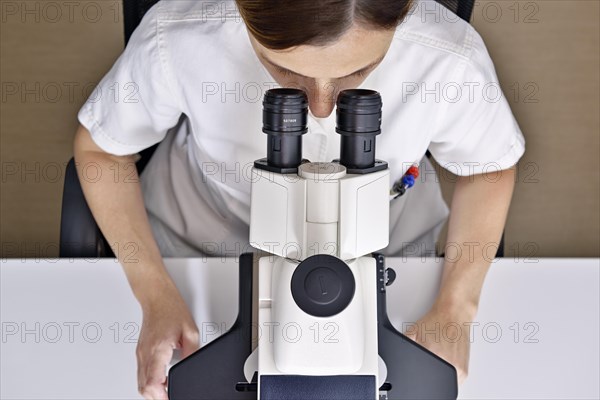
[[[489,3],[502,9],[496,23]],[[511,106],[527,151],[506,236],[521,255],[528,242],[539,256],[600,255],[599,4],[479,1],[475,9],[506,95],[519,87]],[[525,102],[532,89],[537,103]]]

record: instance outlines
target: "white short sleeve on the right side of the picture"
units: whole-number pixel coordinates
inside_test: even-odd
[[[481,36],[471,28],[468,56],[441,87],[444,102],[429,151],[447,170],[468,176],[507,169],[525,152],[525,140],[498,83]]]

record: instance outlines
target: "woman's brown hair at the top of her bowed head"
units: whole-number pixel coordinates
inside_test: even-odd
[[[236,0],[248,30],[263,46],[283,50],[336,41],[353,23],[393,29],[412,0]]]

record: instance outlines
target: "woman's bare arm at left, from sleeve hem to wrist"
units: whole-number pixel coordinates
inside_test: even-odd
[[[74,153],[90,210],[144,307],[173,282],[152,235],[134,158],[102,151],[81,125]]]

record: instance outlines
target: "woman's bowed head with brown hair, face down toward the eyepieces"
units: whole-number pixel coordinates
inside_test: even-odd
[[[385,56],[411,0],[236,0],[257,56],[281,86],[299,87],[317,117]]]

